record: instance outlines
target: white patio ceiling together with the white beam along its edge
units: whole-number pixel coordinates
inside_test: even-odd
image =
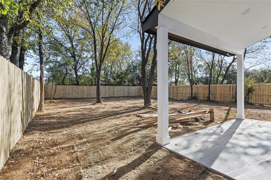
[[[158,19],[169,33],[237,54],[271,35],[271,1],[171,0]]]

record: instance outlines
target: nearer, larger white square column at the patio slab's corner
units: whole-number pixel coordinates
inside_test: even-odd
[[[157,29],[158,134],[156,142],[170,143],[168,136],[168,28]]]

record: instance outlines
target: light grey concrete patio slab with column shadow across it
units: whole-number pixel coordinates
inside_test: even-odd
[[[165,148],[229,179],[271,178],[271,122],[231,120],[172,138]]]

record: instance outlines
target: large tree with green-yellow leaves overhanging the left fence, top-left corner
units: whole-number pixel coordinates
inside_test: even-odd
[[[62,10],[70,2],[71,0],[2,0],[0,2],[0,54],[19,67],[23,29],[31,22],[39,21],[37,13],[43,16],[45,9]],[[32,23],[32,25],[35,24],[37,23]],[[11,56],[9,57],[8,46],[10,44]]]

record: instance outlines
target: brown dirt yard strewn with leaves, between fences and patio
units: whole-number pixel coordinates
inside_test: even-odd
[[[151,110],[142,108],[142,97],[94,102],[93,98],[45,101],[45,111],[36,114],[11,150],[0,179],[224,179],[157,145],[157,128],[130,128],[139,120],[137,113],[156,113],[156,100]],[[170,137],[236,115],[235,104],[170,100],[169,112],[209,108],[214,108],[215,122],[188,122],[172,128]],[[271,121],[270,107],[245,108],[246,118]]]

